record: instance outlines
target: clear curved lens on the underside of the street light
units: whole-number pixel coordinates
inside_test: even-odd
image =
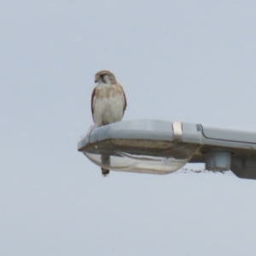
[[[106,169],[167,174],[188,163],[196,148],[191,143],[112,139],[90,144],[83,152],[93,163]]]

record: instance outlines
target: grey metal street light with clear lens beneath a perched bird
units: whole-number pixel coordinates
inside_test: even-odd
[[[256,132],[154,119],[126,120],[91,129],[78,150],[97,166],[121,172],[167,174],[186,163],[256,179]],[[104,157],[109,160],[104,162]]]

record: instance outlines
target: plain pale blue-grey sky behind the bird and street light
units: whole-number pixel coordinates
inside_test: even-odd
[[[0,254],[255,255],[256,181],[103,178],[76,149],[101,69],[125,89],[124,119],[255,131],[255,12],[255,1],[2,1]]]

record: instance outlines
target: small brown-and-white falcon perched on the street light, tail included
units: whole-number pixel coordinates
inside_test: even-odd
[[[102,70],[95,75],[96,87],[91,94],[91,113],[94,123],[98,126],[109,125],[123,119],[127,106],[125,91],[117,82],[113,73]],[[102,164],[110,166],[110,156],[102,154]],[[106,177],[108,169],[102,168]]]

